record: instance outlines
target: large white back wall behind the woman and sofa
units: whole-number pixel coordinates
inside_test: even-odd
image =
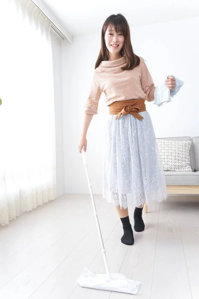
[[[199,17],[131,28],[134,52],[146,59],[155,85],[170,74],[185,82],[180,92],[162,107],[146,102],[156,137],[199,136]],[[66,193],[89,193],[78,139],[83,105],[87,99],[95,62],[100,51],[100,32],[62,44],[62,90]],[[105,133],[105,95],[99,114],[88,132],[87,159],[94,193],[102,193],[102,148]]]

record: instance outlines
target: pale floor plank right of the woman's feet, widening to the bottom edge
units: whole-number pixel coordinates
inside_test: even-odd
[[[191,299],[174,197],[160,205],[151,299]]]

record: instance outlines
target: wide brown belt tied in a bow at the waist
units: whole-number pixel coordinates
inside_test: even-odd
[[[126,100],[126,101],[116,101],[109,105],[109,114],[116,114],[116,119],[120,115],[127,115],[130,113],[138,120],[143,119],[143,117],[138,114],[138,112],[146,111],[145,100]]]

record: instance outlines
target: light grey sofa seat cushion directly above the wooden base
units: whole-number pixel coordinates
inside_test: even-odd
[[[199,185],[199,171],[164,171],[167,185]]]

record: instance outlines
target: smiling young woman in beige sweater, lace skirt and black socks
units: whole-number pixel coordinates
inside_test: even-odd
[[[175,78],[165,80],[175,88]],[[134,243],[128,216],[128,204],[134,210],[134,230],[144,230],[143,204],[167,198],[162,162],[145,100],[154,100],[155,85],[143,58],[134,54],[126,18],[110,15],[101,30],[101,49],[95,65],[90,94],[85,104],[79,151],[87,150],[87,131],[102,92],[109,106],[105,134],[103,198],[112,202],[121,219],[124,234],[121,242]],[[127,204],[127,194],[129,202]]]

